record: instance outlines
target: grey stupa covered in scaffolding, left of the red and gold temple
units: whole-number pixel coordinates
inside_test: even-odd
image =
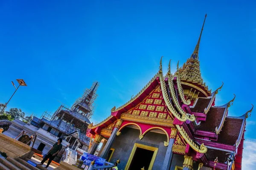
[[[72,151],[70,161],[76,161],[79,155],[88,150],[90,138],[86,136],[86,130],[91,123],[98,87],[99,83],[94,82],[71,108],[61,104],[53,114],[44,112],[41,118],[34,116],[27,124],[18,119],[14,120],[4,134],[17,140],[25,140],[31,135],[37,135],[33,148],[40,154],[47,153],[58,138],[63,138],[63,147],[69,147]],[[61,160],[63,152],[55,157],[55,161]]]

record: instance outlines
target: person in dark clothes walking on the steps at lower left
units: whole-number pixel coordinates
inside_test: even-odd
[[[62,138],[58,139],[58,142],[56,142],[52,148],[49,150],[49,152],[47,153],[47,156],[44,157],[44,159],[41,161],[41,164],[39,165],[43,165],[44,162],[49,158],[49,161],[46,165],[46,168],[49,167],[50,163],[52,162],[52,160],[55,158],[55,156],[58,154],[58,152],[61,150],[62,148]]]

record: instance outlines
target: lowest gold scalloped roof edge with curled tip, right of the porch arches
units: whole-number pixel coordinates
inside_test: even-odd
[[[194,141],[189,138],[189,135],[186,133],[186,131],[183,129],[183,127],[180,127],[180,125],[177,125],[177,130],[179,131],[180,135],[185,139],[185,141],[189,144],[190,147],[192,147],[193,150],[199,152],[199,153],[206,153],[207,147],[204,146],[204,144],[201,144],[200,148],[198,145],[194,143]]]

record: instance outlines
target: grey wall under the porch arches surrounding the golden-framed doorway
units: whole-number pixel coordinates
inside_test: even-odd
[[[167,150],[167,147],[163,145],[163,142],[166,141],[166,135],[149,132],[141,141],[139,139],[139,135],[140,131],[137,129],[128,127],[124,128],[122,130],[122,134],[116,136],[116,139],[113,142],[112,148],[114,148],[115,151],[110,162],[114,163],[116,160],[120,159],[121,163],[118,165],[118,169],[125,170],[125,166],[131,154],[131,150],[134,147],[134,143],[139,143],[158,148],[153,170],[160,170]]]

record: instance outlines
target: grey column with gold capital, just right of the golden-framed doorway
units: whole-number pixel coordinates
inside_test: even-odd
[[[166,150],[166,156],[163,160],[163,166],[162,166],[161,170],[169,170],[170,167],[171,167],[172,156],[173,156],[172,145],[175,141],[176,134],[177,134],[177,129],[172,128],[172,133],[171,133],[171,136],[170,136],[169,145],[168,145],[167,150]]]

